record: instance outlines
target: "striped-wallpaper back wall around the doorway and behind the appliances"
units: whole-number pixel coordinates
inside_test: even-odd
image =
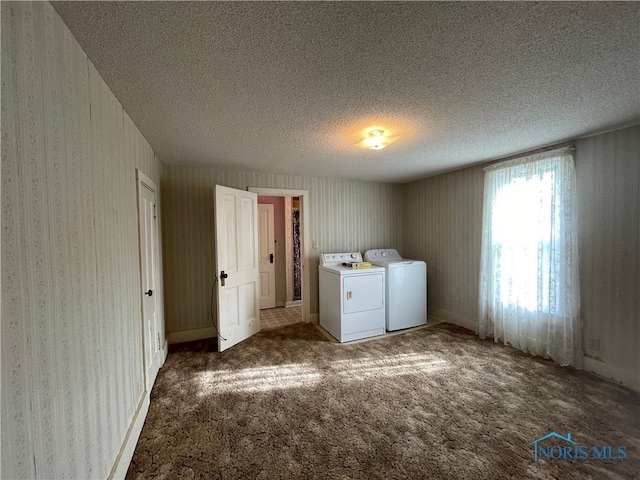
[[[311,312],[318,311],[324,252],[402,249],[402,186],[355,180],[165,166],[162,171],[166,321],[169,332],[208,328],[216,184],[308,190]],[[306,299],[303,299],[306,301]]]

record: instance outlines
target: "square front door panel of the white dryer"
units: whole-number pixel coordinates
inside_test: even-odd
[[[384,307],[384,273],[348,275],[342,279],[342,312],[355,313]]]

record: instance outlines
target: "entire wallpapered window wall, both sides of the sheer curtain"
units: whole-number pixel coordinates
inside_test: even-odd
[[[577,140],[585,367],[640,388],[640,127]],[[428,268],[428,310],[477,330],[482,166],[404,186],[404,256]],[[591,339],[599,339],[596,351]]]

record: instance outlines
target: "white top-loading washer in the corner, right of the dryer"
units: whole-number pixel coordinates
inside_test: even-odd
[[[364,259],[386,271],[386,328],[427,324],[427,264],[402,258],[393,248],[367,250]]]

